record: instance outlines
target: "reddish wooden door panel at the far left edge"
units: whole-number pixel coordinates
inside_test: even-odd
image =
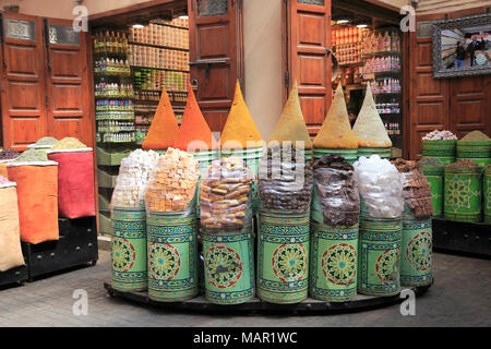
[[[1,13],[3,146],[24,151],[47,134],[43,22]]]

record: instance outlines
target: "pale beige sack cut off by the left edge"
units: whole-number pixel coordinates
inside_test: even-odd
[[[14,182],[0,178],[0,272],[24,265]]]

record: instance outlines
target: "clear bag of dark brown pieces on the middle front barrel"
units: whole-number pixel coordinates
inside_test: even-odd
[[[267,148],[260,163],[259,183],[262,208],[307,210],[313,174],[304,149]]]

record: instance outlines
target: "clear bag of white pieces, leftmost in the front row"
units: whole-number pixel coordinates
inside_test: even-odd
[[[145,190],[159,155],[153,151],[136,149],[121,160],[111,207],[144,207]]]

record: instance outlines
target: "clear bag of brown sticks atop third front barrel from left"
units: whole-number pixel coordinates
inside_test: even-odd
[[[252,214],[253,177],[237,157],[214,160],[200,185],[202,227],[207,230],[243,227]]]

